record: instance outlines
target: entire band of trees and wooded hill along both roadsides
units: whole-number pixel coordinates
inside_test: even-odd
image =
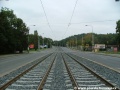
[[[34,34],[29,34],[29,27],[25,22],[18,18],[13,10],[1,8],[0,10],[0,54],[23,52],[27,50],[30,44],[34,44],[34,50],[39,45],[47,45],[48,48],[55,46],[92,47],[92,34],[94,36],[94,44],[116,45],[120,47],[120,20],[116,22],[116,33],[96,34],[83,33],[70,36],[61,41],[54,41],[50,38],[39,36],[37,30]]]

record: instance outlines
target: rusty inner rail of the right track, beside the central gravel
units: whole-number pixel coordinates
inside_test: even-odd
[[[62,55],[62,54],[61,54],[61,55]],[[72,81],[74,90],[78,90],[78,87],[79,87],[79,86],[78,86],[78,84],[77,84],[74,76],[72,75],[72,72],[71,72],[70,68],[68,67],[68,64],[66,63],[65,58],[64,58],[63,55],[62,55],[62,58],[63,58],[63,61],[64,61],[64,63],[65,63],[65,67],[66,67],[66,69],[67,69],[67,72],[68,72],[68,74],[69,74],[69,76],[70,76],[70,79],[71,79],[71,81]]]

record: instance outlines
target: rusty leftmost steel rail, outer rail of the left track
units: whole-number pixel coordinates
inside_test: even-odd
[[[31,67],[29,67],[27,70],[23,71],[21,74],[17,75],[16,77],[14,77],[13,79],[9,80],[8,82],[6,82],[5,84],[3,84],[0,87],[0,90],[5,90],[9,85],[11,85],[12,83],[14,83],[15,81],[17,81],[20,77],[22,77],[24,74],[26,74],[27,72],[29,72],[31,69],[33,69],[35,66],[37,66],[39,63],[41,63],[42,61],[44,61],[46,58],[48,58],[49,56],[51,56],[53,53],[48,54],[44,57],[42,57],[42,60],[39,61],[38,63],[32,65]],[[37,59],[38,60],[38,59]]]

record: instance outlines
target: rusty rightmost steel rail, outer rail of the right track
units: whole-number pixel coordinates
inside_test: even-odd
[[[78,64],[80,64],[81,66],[83,66],[86,70],[88,70],[89,72],[91,72],[94,76],[96,76],[98,79],[100,79],[106,86],[111,87],[111,88],[115,88],[112,90],[120,90],[118,88],[116,88],[112,83],[110,83],[109,81],[107,81],[105,78],[101,77],[100,75],[98,75],[96,72],[92,71],[89,67],[85,66],[84,64],[80,63],[77,59],[75,59],[74,57],[72,57],[71,55],[65,53],[66,55],[68,55],[69,57],[71,57],[74,61],[76,61]]]

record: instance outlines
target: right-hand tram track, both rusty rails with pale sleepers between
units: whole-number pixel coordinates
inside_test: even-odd
[[[62,57],[75,90],[119,90],[72,56],[64,53]]]

